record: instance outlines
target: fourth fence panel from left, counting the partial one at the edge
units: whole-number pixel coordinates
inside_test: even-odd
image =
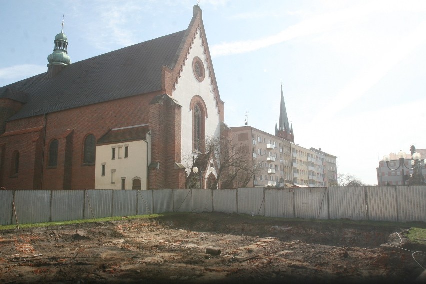
[[[84,219],[112,217],[112,189],[85,190]]]

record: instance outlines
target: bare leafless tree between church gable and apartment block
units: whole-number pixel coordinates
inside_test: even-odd
[[[237,141],[234,137],[226,136],[208,137],[205,142],[205,152],[199,154],[195,159],[184,158],[186,167],[192,169],[194,166],[207,168],[210,159],[216,161],[216,179],[210,184],[212,188],[245,187],[253,176],[260,172],[260,168],[253,164],[251,152],[245,141]],[[186,187],[193,183],[194,174],[190,171],[186,179]]]

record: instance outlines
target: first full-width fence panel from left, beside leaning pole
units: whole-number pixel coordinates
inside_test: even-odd
[[[15,208],[19,224],[50,221],[50,190],[15,190]],[[15,218],[12,223],[16,224]]]

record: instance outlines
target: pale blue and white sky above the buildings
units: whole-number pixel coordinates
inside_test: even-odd
[[[197,0],[0,0],[0,86],[188,27]],[[426,148],[426,1],[199,0],[225,123],[274,134],[281,84],[295,143],[377,184],[383,155]],[[424,159],[426,157],[422,157]]]

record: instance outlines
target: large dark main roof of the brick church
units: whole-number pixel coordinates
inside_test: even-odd
[[[173,68],[186,30],[121,48],[0,88],[27,93],[9,120],[161,90],[161,67]]]

